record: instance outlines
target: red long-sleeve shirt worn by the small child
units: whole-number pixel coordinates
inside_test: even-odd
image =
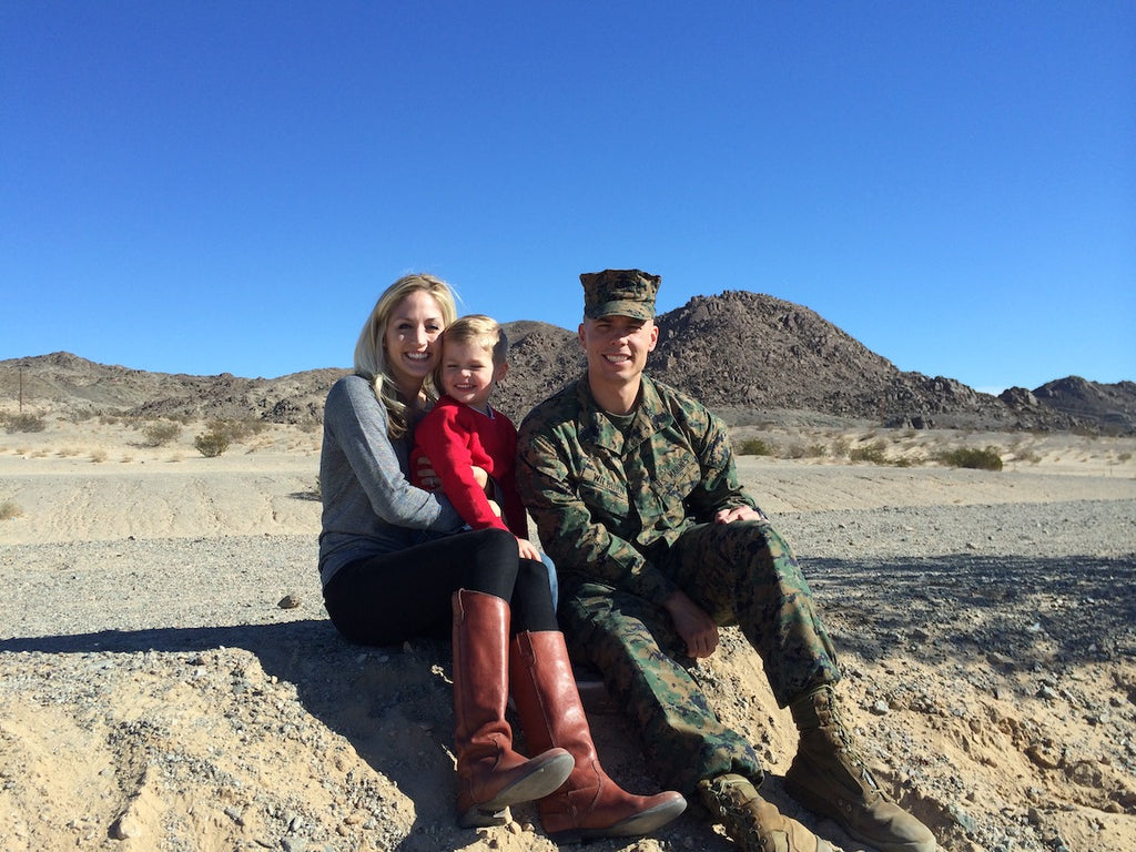
[[[442,482],[442,491],[458,515],[474,529],[496,527],[528,538],[528,518],[517,491],[517,429],[500,411],[485,415],[443,395],[415,427],[411,476],[418,482],[418,460],[426,457]],[[474,479],[483,468],[496,485],[502,520],[490,509],[485,492]]]

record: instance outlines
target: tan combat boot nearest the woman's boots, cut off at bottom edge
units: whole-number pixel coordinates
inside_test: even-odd
[[[742,852],[833,852],[826,841],[759,796],[742,775],[701,780],[699,793]]]

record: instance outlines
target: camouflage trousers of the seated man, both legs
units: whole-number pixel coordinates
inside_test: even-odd
[[[768,521],[705,524],[654,565],[721,626],[737,625],[761,655],[777,702],[836,683],[832,642],[788,544]],[[565,577],[560,615],[574,649],[640,726],[648,762],[668,788],[763,774],[753,746],[718,719],[691,676],[666,609],[609,585]]]

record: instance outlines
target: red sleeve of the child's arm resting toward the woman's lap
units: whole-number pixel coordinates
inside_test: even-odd
[[[431,460],[442,492],[474,529],[508,529],[490,508],[490,499],[474,478],[469,436],[459,409],[437,406],[415,428],[418,448]]]

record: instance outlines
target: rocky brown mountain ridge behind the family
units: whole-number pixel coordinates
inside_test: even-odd
[[[1136,383],[1077,376],[999,396],[943,376],[907,373],[799,304],[728,291],[695,296],[660,315],[650,374],[684,390],[730,423],[809,412],[913,428],[1080,429],[1136,433]],[[504,326],[511,370],[498,408],[519,421],[584,369],[576,334],[546,323]],[[19,369],[24,365],[24,369]],[[0,361],[0,394],[36,408],[135,417],[256,417],[319,420],[327,389],[349,370],[312,369],[278,378],[147,373],[68,352]]]

